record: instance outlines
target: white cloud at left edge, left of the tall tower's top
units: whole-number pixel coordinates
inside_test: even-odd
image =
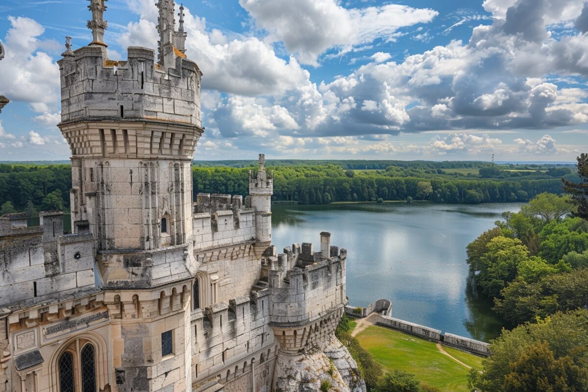
[[[6,56],[0,61],[0,89],[13,101],[31,103],[35,111],[56,107],[59,100],[59,68],[47,53],[39,51],[45,29],[30,18],[8,16]]]

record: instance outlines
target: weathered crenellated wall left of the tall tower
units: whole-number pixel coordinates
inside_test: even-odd
[[[74,298],[96,287],[91,233],[64,234],[64,214],[39,214],[28,227],[24,213],[0,217],[0,306],[29,307]]]

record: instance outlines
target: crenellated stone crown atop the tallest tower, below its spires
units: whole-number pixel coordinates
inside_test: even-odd
[[[141,119],[201,127],[202,72],[177,56],[175,68],[156,63],[153,49],[131,46],[112,61],[101,45],[59,60],[62,123],[82,119]]]

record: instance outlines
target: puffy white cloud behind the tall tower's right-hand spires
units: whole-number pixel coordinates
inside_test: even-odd
[[[127,31],[118,38],[123,46],[156,48],[158,35],[157,8],[151,0],[133,0],[131,9],[141,17],[130,22]],[[293,86],[308,82],[295,58],[279,58],[265,42],[255,37],[236,36],[220,39],[221,33],[206,31],[204,18],[192,15],[185,8],[184,29],[188,33],[186,54],[198,61],[205,75],[203,88],[239,95],[270,95],[283,93]]]

